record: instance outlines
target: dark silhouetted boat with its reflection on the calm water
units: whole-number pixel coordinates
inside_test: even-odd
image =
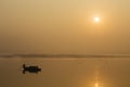
[[[23,64],[23,74],[25,74],[26,71],[29,73],[38,73],[41,71],[41,69],[39,69],[38,66],[26,66],[25,64]]]

